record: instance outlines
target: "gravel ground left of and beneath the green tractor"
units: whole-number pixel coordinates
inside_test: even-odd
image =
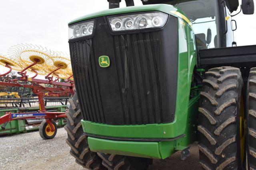
[[[51,140],[43,140],[38,131],[0,137],[0,169],[86,170],[69,154],[66,136],[62,127]],[[180,160],[180,152],[176,152],[165,160],[154,160],[149,170],[200,169],[196,144],[190,150],[190,157],[185,161]]]

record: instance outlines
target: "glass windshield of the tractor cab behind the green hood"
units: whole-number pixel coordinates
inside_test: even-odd
[[[192,22],[196,34],[198,49],[216,48],[218,44],[218,4],[216,0],[178,0],[165,4],[176,6],[182,10]],[[207,32],[212,33],[211,41],[206,41]],[[208,40],[210,40],[210,34]]]

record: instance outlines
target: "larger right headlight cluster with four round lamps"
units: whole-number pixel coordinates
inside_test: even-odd
[[[168,14],[162,12],[150,12],[145,14],[108,17],[108,21],[112,31],[124,31],[163,27],[167,18]]]

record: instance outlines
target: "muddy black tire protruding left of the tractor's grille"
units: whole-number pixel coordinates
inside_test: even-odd
[[[70,146],[70,154],[76,158],[76,163],[91,170],[104,170],[102,159],[96,152],[89,149],[87,136],[84,134],[81,125],[82,114],[78,104],[77,95],[69,100],[70,106],[66,110],[67,124],[64,126],[68,133],[66,143]]]

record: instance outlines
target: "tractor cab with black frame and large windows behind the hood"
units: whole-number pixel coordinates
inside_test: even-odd
[[[143,4],[170,4],[182,10],[193,25],[198,49],[232,47],[236,21],[231,13],[238,0],[142,0]]]

